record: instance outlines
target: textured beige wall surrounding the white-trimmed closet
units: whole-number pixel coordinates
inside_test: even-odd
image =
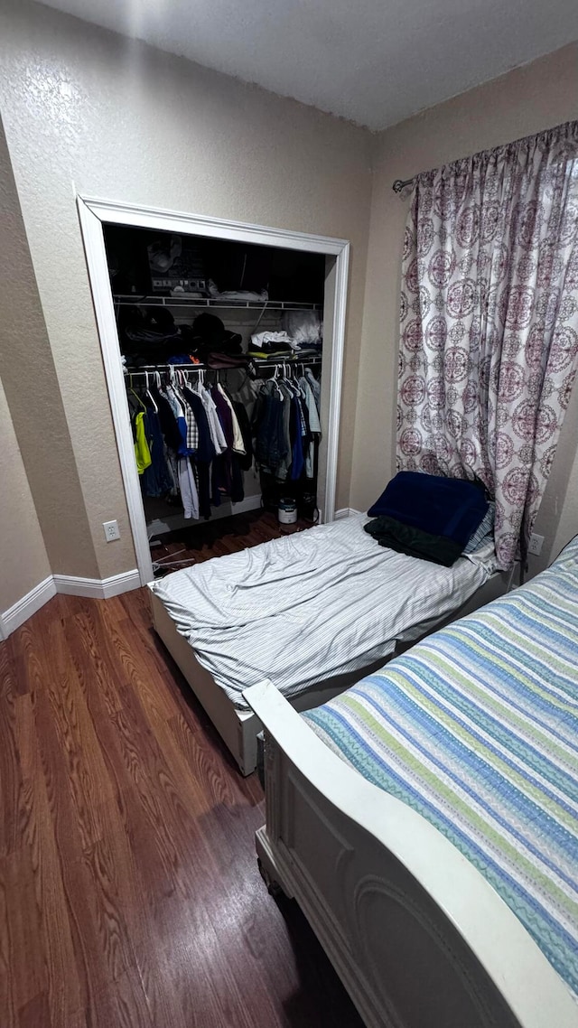
[[[34,4],[2,4],[0,62],[2,116],[100,576],[135,558],[76,193],[351,241],[337,482],[337,507],[347,506],[373,137]],[[122,538],[107,545],[101,523],[114,517]]]

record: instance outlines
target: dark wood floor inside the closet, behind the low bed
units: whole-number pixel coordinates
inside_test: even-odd
[[[248,511],[159,537],[162,544],[153,546],[150,552],[152,559],[164,564],[170,573],[177,570],[170,566],[173,560],[186,561],[188,565],[201,563],[311,527],[311,522],[303,519],[295,524],[280,524],[275,514]]]

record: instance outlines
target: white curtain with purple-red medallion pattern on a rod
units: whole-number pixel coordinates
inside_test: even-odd
[[[400,321],[398,466],[477,475],[510,567],[578,360],[578,121],[418,176]]]

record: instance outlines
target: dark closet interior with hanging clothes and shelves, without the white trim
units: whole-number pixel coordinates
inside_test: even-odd
[[[153,557],[249,510],[315,522],[325,256],[103,228]]]

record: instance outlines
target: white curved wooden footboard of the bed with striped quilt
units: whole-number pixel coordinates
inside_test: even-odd
[[[263,877],[304,912],[368,1028],[576,1028],[515,915],[433,825],[333,754],[273,683]]]

